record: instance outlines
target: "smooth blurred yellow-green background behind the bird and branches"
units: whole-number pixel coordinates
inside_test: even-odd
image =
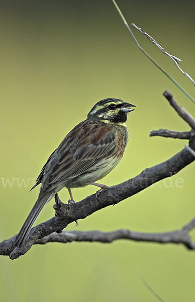
[[[122,1],[129,24],[142,27],[183,59],[195,78],[193,1]],[[187,99],[138,50],[111,1],[1,1],[1,240],[19,232],[37,199],[29,193],[49,155],[97,101],[114,97],[137,106],[129,114],[129,144],[118,167],[102,181],[123,182],[165,161],[187,141],[149,137],[152,129],[189,127],[163,98]],[[141,45],[191,94],[193,85],[144,36]],[[24,179],[24,183],[19,186]],[[181,179],[180,179],[181,178]],[[27,184],[29,179],[29,183]],[[181,181],[179,187],[176,181]],[[76,201],[92,186],[73,190]],[[67,190],[60,192],[68,200]],[[36,223],[54,215],[50,202]],[[195,211],[194,164],[67,230],[171,231]],[[182,246],[118,241],[34,246],[15,261],[1,257],[2,301],[156,301],[138,272],[165,301],[194,300],[195,252]]]

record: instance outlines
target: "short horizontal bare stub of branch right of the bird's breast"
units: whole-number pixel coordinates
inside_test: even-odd
[[[159,130],[152,130],[150,131],[150,136],[163,136],[163,137],[172,137],[172,138],[179,138],[179,139],[191,139],[193,132],[191,131],[172,131],[167,129],[159,129]]]

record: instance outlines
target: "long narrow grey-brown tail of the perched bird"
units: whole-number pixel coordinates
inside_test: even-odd
[[[44,205],[51,200],[53,197],[53,194],[51,192],[47,192],[43,194],[43,192],[40,192],[39,197],[33,206],[30,214],[28,215],[27,219],[25,220],[17,238],[14,242],[15,247],[20,247],[23,241],[27,238],[33,223],[37,219],[38,215],[40,214],[41,210],[43,209]]]

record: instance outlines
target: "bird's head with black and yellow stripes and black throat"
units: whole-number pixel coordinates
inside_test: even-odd
[[[96,103],[89,111],[87,119],[101,121],[107,124],[125,125],[127,113],[136,107],[120,99],[104,99]]]

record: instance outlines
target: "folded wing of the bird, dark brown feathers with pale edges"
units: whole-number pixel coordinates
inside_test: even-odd
[[[105,125],[105,124],[104,124]],[[66,146],[66,154],[62,152],[58,162],[52,170],[49,184],[58,186],[61,182],[78,177],[90,171],[90,168],[107,156],[112,156],[116,147],[116,129],[112,126],[97,126],[93,133],[80,133],[80,139],[73,146]],[[102,133],[101,133],[102,132]],[[84,137],[83,137],[84,135]],[[87,144],[83,146],[82,137]],[[96,137],[96,140],[94,140]]]

